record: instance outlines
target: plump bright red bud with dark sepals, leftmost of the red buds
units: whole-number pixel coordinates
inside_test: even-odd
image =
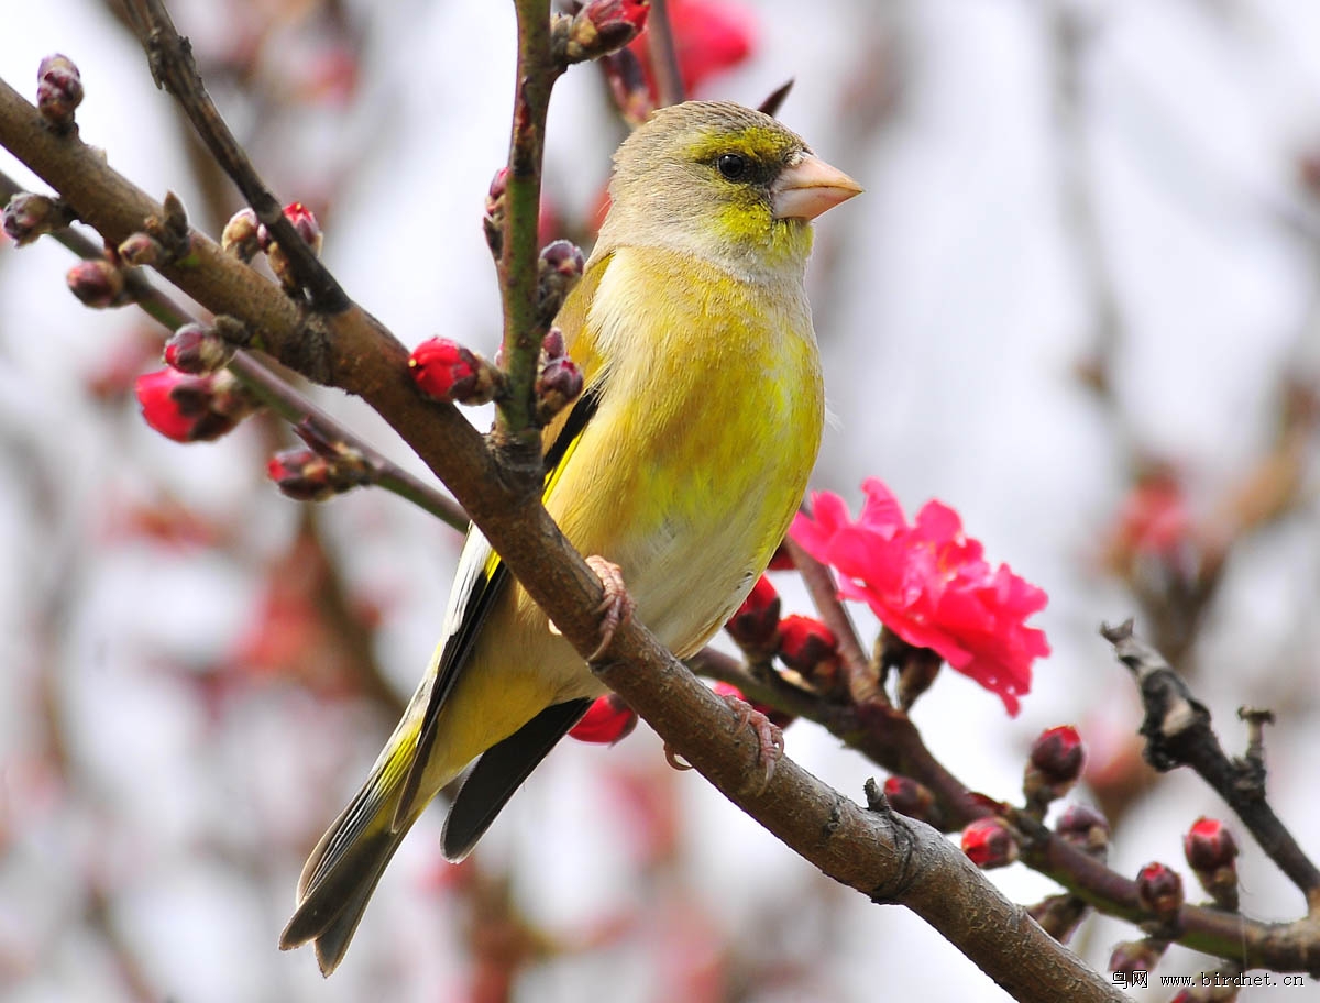
[[[147,424],[176,442],[202,442],[226,434],[259,406],[228,372],[189,376],[160,370],[133,385]]]

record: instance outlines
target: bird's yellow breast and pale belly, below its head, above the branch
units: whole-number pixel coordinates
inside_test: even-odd
[[[618,248],[589,276],[569,351],[599,409],[546,499],[582,553],[623,569],[678,655],[742,602],[801,500],[824,391],[801,280],[748,282]]]

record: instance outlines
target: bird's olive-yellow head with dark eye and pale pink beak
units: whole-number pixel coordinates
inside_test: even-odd
[[[686,102],[656,111],[615,153],[598,251],[660,247],[747,277],[800,275],[810,220],[861,190],[771,116]]]

